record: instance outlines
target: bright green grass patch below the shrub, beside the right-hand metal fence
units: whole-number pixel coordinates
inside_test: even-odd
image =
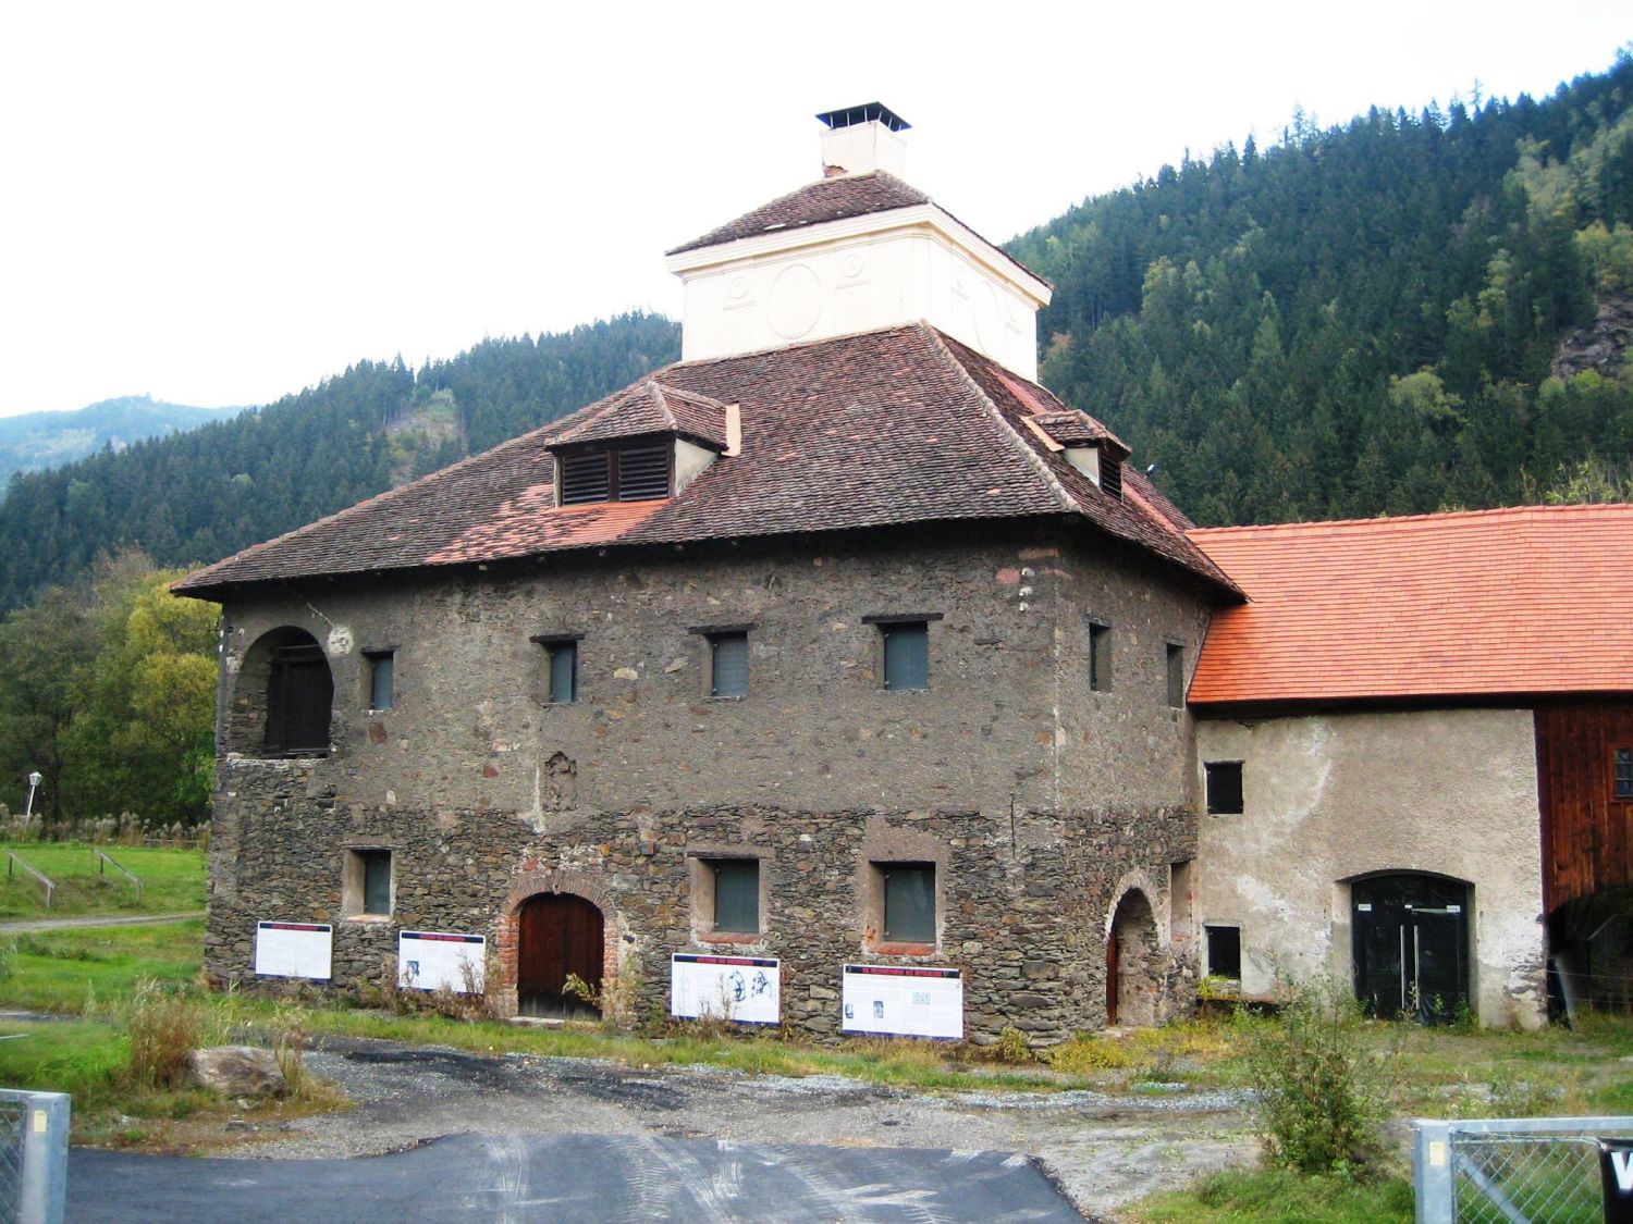
[[[1141,1224],[1411,1224],[1404,1177],[1359,1182],[1277,1170],[1228,1169],[1190,1190],[1148,1198],[1127,1219]]]

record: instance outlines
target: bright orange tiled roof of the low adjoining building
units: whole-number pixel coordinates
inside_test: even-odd
[[[1251,602],[1194,705],[1633,690],[1633,506],[1194,530]]]

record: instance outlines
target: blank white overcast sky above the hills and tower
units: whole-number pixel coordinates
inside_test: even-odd
[[[1225,140],[1543,95],[1626,0],[0,7],[0,415],[250,405],[642,307],[883,101],[993,240]]]

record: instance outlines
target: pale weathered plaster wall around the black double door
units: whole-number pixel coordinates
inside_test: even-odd
[[[1239,925],[1243,991],[1352,979],[1349,886],[1367,871],[1473,885],[1479,1020],[1545,1018],[1542,839],[1530,710],[1199,720],[1202,764],[1243,762],[1239,816],[1202,816],[1197,937]],[[1200,945],[1199,947],[1205,947]]]

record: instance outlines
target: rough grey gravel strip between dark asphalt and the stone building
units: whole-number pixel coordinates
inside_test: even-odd
[[[919,1093],[838,1075],[637,1069],[354,1038],[327,1038],[307,1066],[358,1108],[217,1154],[374,1155],[475,1131],[1003,1151],[1037,1157],[1076,1208],[1099,1219],[1256,1151],[1235,1092]]]

